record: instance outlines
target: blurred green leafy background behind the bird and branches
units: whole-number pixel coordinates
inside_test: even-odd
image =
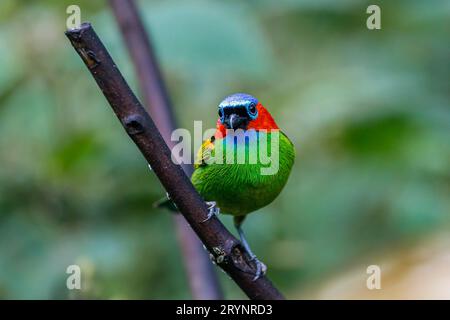
[[[0,298],[190,298],[172,219],[152,208],[165,191],[64,36],[70,4],[138,90],[106,1],[0,2]],[[450,2],[138,5],[181,127],[213,127],[243,91],[294,142],[286,188],[245,224],[288,298],[450,299]]]

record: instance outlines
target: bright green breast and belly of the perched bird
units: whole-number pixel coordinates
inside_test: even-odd
[[[294,158],[294,146],[281,132],[258,133],[257,139],[220,139],[214,142],[209,164],[194,171],[192,183],[205,201],[216,201],[222,213],[246,215],[278,196]]]

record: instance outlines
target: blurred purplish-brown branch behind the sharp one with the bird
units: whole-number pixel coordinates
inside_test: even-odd
[[[110,0],[109,3],[134,63],[144,106],[166,143],[173,147],[170,135],[176,125],[172,104],[136,4],[133,0]],[[192,169],[192,165],[183,165],[184,172],[189,176]],[[173,221],[193,298],[222,299],[217,274],[197,235],[183,217],[174,215]]]

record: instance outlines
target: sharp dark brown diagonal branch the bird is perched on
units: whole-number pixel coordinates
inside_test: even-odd
[[[263,276],[253,281],[255,265],[236,239],[216,217],[206,222],[208,210],[180,165],[172,162],[171,151],[153,120],[139,103],[111,56],[89,23],[68,30],[67,37],[88,67],[98,86],[130,138],[153,168],[192,229],[216,263],[251,299],[283,299]]]

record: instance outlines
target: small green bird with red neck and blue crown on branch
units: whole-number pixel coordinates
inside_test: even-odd
[[[218,112],[216,133],[203,142],[191,181],[209,205],[206,220],[219,211],[234,216],[241,242],[255,262],[256,280],[267,268],[250,250],[242,222],[247,214],[268,205],[280,194],[294,164],[295,149],[266,108],[249,94],[226,97],[219,104]],[[274,137],[278,147],[275,149],[272,148]],[[266,144],[262,143],[264,139]],[[227,152],[230,148],[233,152]],[[239,162],[240,152],[245,158],[241,157]],[[271,152],[277,152],[276,157]],[[271,161],[263,161],[264,154]],[[256,161],[255,157],[252,161],[252,155],[256,155]],[[276,170],[263,174],[262,169],[270,166]]]

